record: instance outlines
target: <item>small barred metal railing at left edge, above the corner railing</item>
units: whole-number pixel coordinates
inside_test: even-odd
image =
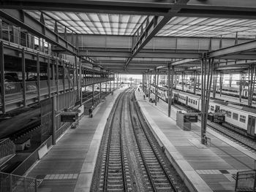
[[[0,163],[1,158],[15,154],[15,144],[9,139],[0,140]]]

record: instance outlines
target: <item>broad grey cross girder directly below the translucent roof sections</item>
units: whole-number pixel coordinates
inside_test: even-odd
[[[67,36],[70,39],[71,35]],[[200,58],[201,53],[207,53],[211,41],[211,50],[219,50],[219,38],[195,37],[154,37],[140,50],[135,58]],[[238,39],[241,44],[250,42],[250,39]],[[97,47],[95,47],[97,42]],[[123,57],[129,58],[132,37],[110,35],[83,35],[78,34],[80,55],[92,57]],[[222,47],[233,47],[235,39],[221,39]],[[224,48],[225,49],[225,48]],[[256,59],[255,52],[239,53],[236,55],[222,55],[225,59]]]

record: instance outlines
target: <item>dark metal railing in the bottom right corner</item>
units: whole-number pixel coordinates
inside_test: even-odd
[[[235,191],[254,191],[256,185],[256,170],[237,172]]]

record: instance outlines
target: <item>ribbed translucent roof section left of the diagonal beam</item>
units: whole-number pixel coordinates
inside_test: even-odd
[[[41,12],[26,11],[39,20]],[[45,12],[45,23],[53,29],[55,20],[78,34],[132,35],[145,20],[145,15],[117,15],[84,12]],[[59,31],[64,27],[59,25]],[[67,31],[70,32],[70,31]]]

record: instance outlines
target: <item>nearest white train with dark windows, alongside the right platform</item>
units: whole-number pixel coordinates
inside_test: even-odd
[[[151,89],[154,89],[154,87],[152,86]],[[167,90],[165,93],[162,93],[162,90],[159,89],[158,95],[165,100],[167,98]],[[189,106],[193,110],[200,111],[201,109],[200,96],[173,90],[173,98],[174,101],[178,101],[181,104]],[[230,104],[225,101],[211,99],[209,101],[208,112],[211,114],[225,112],[225,118],[221,116],[217,117],[219,118],[219,122],[217,123],[222,123],[222,120],[225,120],[225,123],[232,126],[236,131],[246,134],[249,137],[256,138],[256,110],[254,108],[243,107],[236,104]],[[215,119],[217,118],[215,117]]]

